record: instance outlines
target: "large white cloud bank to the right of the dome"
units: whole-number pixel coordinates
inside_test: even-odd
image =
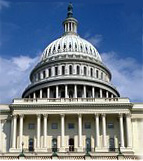
[[[104,64],[111,70],[112,82],[122,97],[143,101],[143,66],[133,58],[120,58],[115,52],[101,54]]]

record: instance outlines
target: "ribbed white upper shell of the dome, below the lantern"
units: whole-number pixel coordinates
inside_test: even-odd
[[[61,38],[49,44],[42,54],[41,61],[63,52],[84,53],[94,56],[98,61],[102,61],[96,48],[76,34],[65,34]]]

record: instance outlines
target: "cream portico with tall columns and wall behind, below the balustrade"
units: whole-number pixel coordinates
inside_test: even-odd
[[[61,103],[61,106],[63,106],[63,103]],[[114,139],[115,150],[116,148],[118,148],[118,144],[116,142],[121,142],[122,151],[132,150],[131,115],[127,109],[124,109],[124,112],[121,113],[120,110],[114,111],[113,109],[109,110],[107,108],[107,110],[104,110],[103,112],[102,110],[100,110],[100,108],[98,109],[92,107],[90,108],[90,110],[88,110],[87,107],[86,110],[84,109],[84,112],[82,112],[83,110],[81,110],[81,112],[77,112],[77,110],[75,110],[75,112],[71,112],[71,110],[73,109],[73,107],[71,107],[71,109],[67,108],[67,110],[57,109],[58,112],[56,112],[57,110],[54,112],[54,108],[52,111],[48,109],[45,111],[45,108],[41,107],[40,111],[38,110],[39,112],[35,111],[35,115],[33,113],[32,106],[31,110],[29,108],[27,113],[23,113],[22,109],[17,111],[16,114],[13,114],[12,116],[13,133],[11,137],[12,147],[10,151],[13,152],[20,151],[22,142],[25,143],[28,141],[25,139],[24,136],[25,134],[23,133],[23,127],[25,126],[26,129],[26,126],[28,125],[25,125],[24,123],[25,119],[29,120],[31,115],[34,116],[35,142],[33,145],[34,146],[33,149],[36,152],[52,151],[52,139],[54,138],[57,140],[56,148],[58,152],[69,151],[68,140],[70,138],[73,138],[75,143],[77,142],[76,144],[74,144],[73,151],[78,152],[86,151],[87,138],[89,138],[90,140],[91,144],[90,146],[92,152],[101,152],[101,151],[109,152],[110,138]],[[39,114],[36,114],[37,112]],[[114,124],[116,124],[116,126],[119,127],[119,131],[117,132],[116,132],[117,127],[115,125],[114,125],[115,129],[112,129],[113,131],[116,132],[117,137],[110,136],[111,134],[110,129],[108,129],[109,128],[108,124],[111,122],[110,117],[112,117],[112,115],[116,116],[117,122],[115,122]],[[72,119],[70,120],[71,117]],[[19,126],[17,126],[18,120],[19,120]],[[55,129],[51,129],[55,133],[52,136],[49,133],[49,131],[53,125],[57,127],[54,127]],[[127,129],[127,132],[124,131],[125,127]],[[89,128],[88,131],[86,130],[86,128]],[[124,139],[125,137],[128,138],[126,144]],[[28,149],[28,143],[25,143],[25,148]]]

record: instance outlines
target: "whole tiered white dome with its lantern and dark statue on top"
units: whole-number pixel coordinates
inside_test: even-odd
[[[119,92],[96,48],[77,34],[78,21],[68,6],[64,34],[49,44],[30,74],[24,98],[113,98]]]

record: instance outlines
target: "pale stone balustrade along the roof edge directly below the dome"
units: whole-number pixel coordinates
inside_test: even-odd
[[[130,103],[128,98],[24,98],[24,99],[14,99],[13,104],[23,104],[23,103]]]

